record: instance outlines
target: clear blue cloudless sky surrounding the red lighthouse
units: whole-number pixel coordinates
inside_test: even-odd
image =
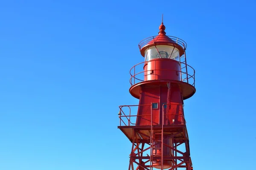
[[[194,170],[255,170],[254,0],[2,0],[0,170],[126,170],[119,105],[136,105],[137,44],[188,44],[196,94],[185,101]]]

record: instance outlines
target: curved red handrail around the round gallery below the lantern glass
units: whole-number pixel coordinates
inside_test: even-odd
[[[138,65],[141,65],[141,64],[146,64],[146,63],[148,63],[148,62],[152,62],[152,61],[154,61],[154,62],[156,62],[156,60],[149,60],[149,61],[145,61],[145,62],[140,62],[140,63],[138,63],[138,64],[136,64],[136,65],[134,65],[131,69],[130,69],[130,75],[131,75],[131,78],[130,78],[130,84],[131,84],[131,86],[133,86],[133,85],[135,85],[135,84],[137,84],[137,83],[135,83],[135,81],[136,80],[138,80],[139,82],[143,82],[144,80],[143,79],[140,79],[140,78],[138,78],[138,77],[136,77],[136,76],[138,76],[138,75],[144,75],[144,73],[145,72],[147,72],[147,71],[154,71],[154,79],[156,79],[156,77],[155,77],[155,74],[156,74],[156,72],[155,71],[177,71],[177,70],[172,70],[172,69],[151,69],[151,70],[144,70],[144,71],[140,71],[140,72],[136,72],[135,70],[136,70],[136,66],[138,66]],[[178,62],[178,61],[177,61]],[[181,80],[180,81],[182,81],[182,82],[186,82],[186,83],[189,83],[189,79],[193,79],[193,81],[192,81],[192,83],[191,83],[191,81],[190,81],[190,85],[192,85],[192,86],[194,86],[195,87],[195,69],[194,68],[192,68],[190,65],[188,65],[188,64],[186,64],[186,63],[184,63],[184,62],[179,62],[180,63],[180,71],[177,71],[177,72],[180,72],[180,76],[181,76]],[[191,71],[189,71],[189,73],[188,73],[188,68],[190,68],[190,69],[192,69]],[[185,69],[184,71],[182,71],[182,69]],[[133,72],[133,73],[132,73]],[[192,72],[192,75],[191,75],[191,73],[190,72]],[[147,74],[148,75],[148,74]],[[185,75],[186,76],[186,78],[184,78],[184,79],[182,79],[182,75]]]

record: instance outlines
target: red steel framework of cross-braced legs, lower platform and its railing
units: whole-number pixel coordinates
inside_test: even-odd
[[[170,105],[171,104],[164,104]],[[164,105],[162,106],[164,108]],[[178,104],[180,105],[180,104]],[[186,129],[186,125],[152,125],[152,114],[151,114],[151,125],[149,126],[135,126],[135,123],[131,122],[131,117],[137,117],[138,115],[131,114],[131,107],[140,106],[140,105],[123,105],[119,106],[119,119],[120,125],[118,128],[122,130],[123,133],[130,139],[132,142],[132,149],[130,154],[130,163],[128,170],[153,170],[152,161],[160,160],[161,169],[163,170],[163,161],[165,160],[173,160],[173,167],[169,168],[169,170],[177,170],[178,168],[186,168],[186,170],[192,170],[192,161],[190,159],[190,151],[189,151],[189,137]],[[126,115],[122,108],[129,108],[129,115]],[[169,114],[164,114],[164,110],[162,110],[162,122],[164,122],[164,117]],[[152,112],[152,108],[151,108]],[[145,115],[144,115],[145,116]],[[180,114],[183,117],[184,115]],[[125,123],[125,121],[128,121]],[[150,135],[146,134],[145,131],[149,131]],[[153,133],[161,133],[161,140],[154,139]],[[174,147],[168,146],[164,144],[163,135],[167,134],[172,136]],[[163,152],[161,156],[153,156],[153,147],[156,145],[154,142],[161,142],[161,150],[163,146],[169,147],[174,151],[173,156],[163,156]],[[148,145],[148,147],[146,147]],[[178,146],[184,145],[186,152],[182,152],[177,149]],[[149,151],[150,155],[147,154],[145,156],[146,151]],[[179,156],[178,156],[179,154]]]

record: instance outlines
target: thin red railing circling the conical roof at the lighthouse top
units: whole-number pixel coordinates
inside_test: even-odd
[[[157,36],[153,36],[153,37],[148,37],[148,38],[145,38],[143,39],[140,43],[139,43],[139,48],[141,50],[141,48],[145,45],[148,44],[148,42],[151,42],[153,41],[154,43],[155,42],[159,42],[160,40],[167,40],[167,39],[172,39],[174,42],[176,42],[178,45],[180,45],[184,50],[186,50],[186,47],[187,47],[187,44],[184,40],[178,38],[178,37],[173,37],[173,36],[166,36],[166,37],[158,37]]]

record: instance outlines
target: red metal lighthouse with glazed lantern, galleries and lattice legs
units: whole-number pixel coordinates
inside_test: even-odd
[[[163,22],[159,30],[139,43],[145,61],[131,68],[129,91],[140,102],[119,106],[118,128],[132,143],[129,170],[192,170],[183,100],[195,94],[195,70],[186,42],[167,36]]]

